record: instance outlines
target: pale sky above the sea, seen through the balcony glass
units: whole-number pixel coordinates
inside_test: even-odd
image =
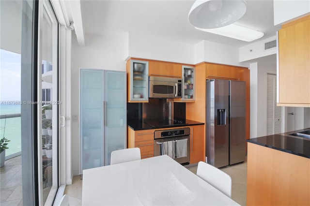
[[[0,49],[0,101],[20,101],[21,55]]]

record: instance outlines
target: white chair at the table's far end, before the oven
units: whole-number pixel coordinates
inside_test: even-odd
[[[139,147],[114,150],[111,153],[111,164],[118,164],[140,159],[141,154]]]

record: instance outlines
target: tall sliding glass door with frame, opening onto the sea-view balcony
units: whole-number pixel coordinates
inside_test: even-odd
[[[47,0],[0,0],[0,21],[0,139],[10,140],[0,205],[52,205],[59,187],[58,21]]]

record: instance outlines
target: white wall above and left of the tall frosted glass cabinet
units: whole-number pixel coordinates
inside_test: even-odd
[[[71,51],[71,114],[79,118],[79,70],[80,68],[125,71],[125,53],[127,34],[98,36],[85,34],[85,46],[78,46],[77,38],[72,35]],[[73,119],[71,117],[71,119]],[[73,175],[79,174],[79,125],[71,124],[72,128],[72,167]]]

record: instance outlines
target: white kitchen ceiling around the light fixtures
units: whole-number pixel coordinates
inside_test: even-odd
[[[193,3],[194,0],[81,0],[83,28],[85,33],[103,36],[125,31],[188,44],[202,40],[237,47],[250,44],[194,29],[187,19]],[[279,25],[274,26],[273,0],[247,0],[246,14],[235,24],[264,32],[259,40],[275,36],[280,29]]]

